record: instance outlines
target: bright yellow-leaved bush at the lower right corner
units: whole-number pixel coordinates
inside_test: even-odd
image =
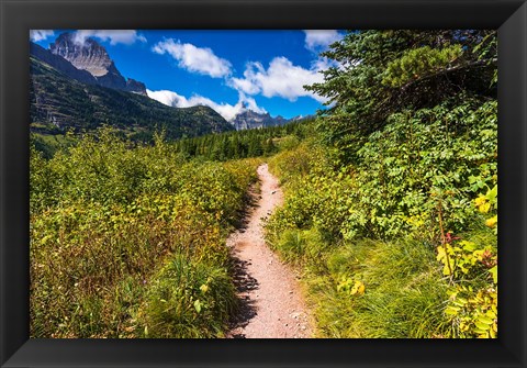
[[[466,238],[448,234],[437,248],[451,283],[445,315],[456,337],[496,338],[497,186],[480,194],[474,205],[487,218],[485,226]]]

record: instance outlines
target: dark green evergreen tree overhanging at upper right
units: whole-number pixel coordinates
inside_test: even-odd
[[[395,112],[452,97],[494,98],[496,54],[495,31],[349,32],[322,54],[336,65],[325,81],[305,87],[334,103],[319,127],[352,159]]]

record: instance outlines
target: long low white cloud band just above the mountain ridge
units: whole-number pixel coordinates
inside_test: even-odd
[[[255,99],[249,98],[244,93],[239,93],[238,102],[234,105],[225,102],[217,103],[206,97],[199,94],[186,98],[184,96],[178,94],[169,90],[150,91],[149,89],[147,89],[146,93],[150,99],[157,100],[161,103],[165,103],[166,105],[173,108],[190,108],[195,105],[210,107],[215,110],[220,115],[222,115],[226,121],[232,121],[234,118],[236,118],[238,113],[240,113],[245,109],[250,109],[258,113],[266,112],[266,110],[258,107]]]

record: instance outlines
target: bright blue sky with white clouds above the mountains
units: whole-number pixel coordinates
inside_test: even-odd
[[[48,48],[64,31],[32,31]],[[231,120],[243,104],[272,116],[314,113],[324,99],[302,86],[323,80],[319,52],[344,35],[326,31],[70,31],[102,44],[121,74],[173,107],[206,104]]]

